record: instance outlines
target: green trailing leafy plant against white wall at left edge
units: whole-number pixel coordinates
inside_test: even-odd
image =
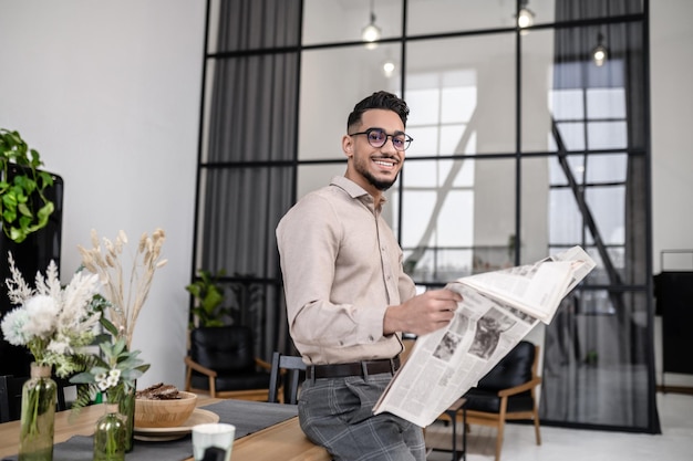
[[[10,167],[17,171],[10,179]],[[38,168],[41,156],[30,149],[18,132],[0,128],[0,223],[4,234],[20,243],[43,229],[54,210],[44,191],[53,178]]]

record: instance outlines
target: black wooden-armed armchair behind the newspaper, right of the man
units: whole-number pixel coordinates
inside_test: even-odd
[[[536,388],[541,384],[537,376],[539,346],[520,340],[478,385],[464,395],[467,425],[490,426],[497,429],[496,461],[500,460],[506,420],[531,420],[537,444],[539,411]]]

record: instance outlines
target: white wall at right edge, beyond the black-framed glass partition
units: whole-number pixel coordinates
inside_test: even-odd
[[[652,84],[652,234],[653,272],[661,271],[662,250],[693,249],[693,2],[650,2]],[[666,259],[664,269],[691,269],[685,261]],[[693,306],[691,306],[693,308]],[[658,381],[661,381],[661,318],[655,318]],[[668,386],[693,386],[693,376],[666,374]]]

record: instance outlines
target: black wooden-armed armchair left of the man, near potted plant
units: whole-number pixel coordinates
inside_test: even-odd
[[[255,356],[252,331],[247,326],[193,329],[185,365],[185,390],[267,401],[270,365]]]

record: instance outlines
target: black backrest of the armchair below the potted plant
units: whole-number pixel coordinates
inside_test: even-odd
[[[195,328],[190,332],[190,357],[216,371],[255,368],[252,331],[242,325]]]

